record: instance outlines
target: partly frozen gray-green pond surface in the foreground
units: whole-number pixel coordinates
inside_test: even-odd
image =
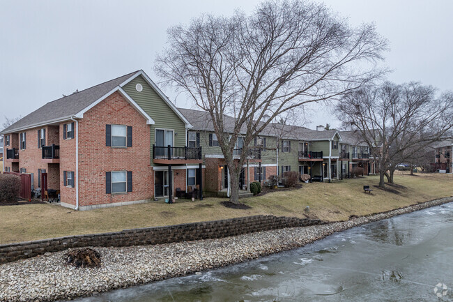
[[[437,287],[440,298],[439,283],[447,287]],[[78,301],[453,301],[452,287],[450,203],[244,264]]]

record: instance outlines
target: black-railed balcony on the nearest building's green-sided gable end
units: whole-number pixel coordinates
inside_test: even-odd
[[[155,146],[153,145],[153,163],[185,164],[202,163],[201,147]]]

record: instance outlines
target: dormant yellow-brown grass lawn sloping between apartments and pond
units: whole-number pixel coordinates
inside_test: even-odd
[[[363,216],[453,195],[452,174],[410,176],[406,172],[395,175],[394,180],[397,186],[387,186],[394,192],[375,188],[378,176],[336,183],[306,183],[299,190],[241,199],[252,206],[249,210],[227,209],[220,204],[226,199],[217,198],[176,204],[151,202],[93,211],[72,211],[50,204],[0,206],[0,243],[258,214],[300,218],[307,214],[321,220],[348,220],[351,215]],[[371,195],[364,194],[364,185],[371,186]],[[309,206],[309,213],[304,211],[306,206]]]

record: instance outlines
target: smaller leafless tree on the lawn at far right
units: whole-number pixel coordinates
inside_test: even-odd
[[[385,82],[347,93],[337,116],[370,146],[378,163],[379,186],[384,187],[387,172],[393,183],[397,165],[414,160],[453,128],[453,94],[436,98],[431,86]]]

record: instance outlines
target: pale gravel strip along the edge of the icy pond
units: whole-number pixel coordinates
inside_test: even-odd
[[[55,301],[188,275],[305,246],[364,223],[452,202],[436,199],[401,209],[310,227],[293,227],[223,239],[158,246],[95,248],[102,265],[76,269],[63,264],[67,251],[0,265],[0,301]]]

